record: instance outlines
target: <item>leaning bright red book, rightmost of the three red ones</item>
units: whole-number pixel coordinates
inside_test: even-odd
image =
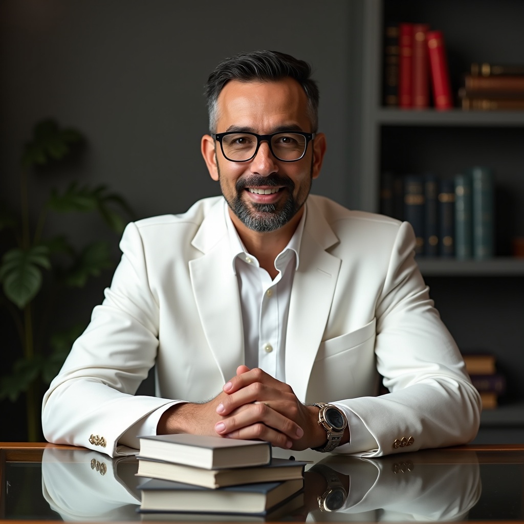
[[[442,31],[428,31],[429,65],[435,108],[439,110],[453,107],[451,97],[450,72],[447,68],[446,52]]]

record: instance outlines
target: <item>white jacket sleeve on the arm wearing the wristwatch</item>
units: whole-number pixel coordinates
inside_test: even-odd
[[[429,298],[414,260],[414,234],[400,225],[376,304],[377,370],[390,391],[340,401],[373,435],[378,448],[339,453],[378,456],[464,444],[479,426],[481,401],[463,358]]]

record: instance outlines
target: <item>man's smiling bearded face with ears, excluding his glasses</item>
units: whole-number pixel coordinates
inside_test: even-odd
[[[300,84],[289,78],[277,82],[228,82],[219,96],[216,122],[217,133],[243,131],[263,135],[281,130],[312,131],[307,96]],[[204,158],[212,178],[220,182],[236,224],[239,221],[249,230],[264,233],[290,222],[298,223],[311,180],[320,171],[323,150],[317,147],[315,155],[317,138],[296,162],[275,158],[267,141],[260,144],[252,160],[232,162],[224,158],[217,141],[211,137],[212,143],[204,139]],[[323,141],[323,136],[319,141]],[[214,157],[211,166],[210,155]]]

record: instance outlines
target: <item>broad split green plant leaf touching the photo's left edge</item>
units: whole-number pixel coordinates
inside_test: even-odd
[[[0,282],[5,296],[20,309],[35,298],[42,285],[40,267],[51,268],[49,249],[43,245],[10,249],[2,258]]]

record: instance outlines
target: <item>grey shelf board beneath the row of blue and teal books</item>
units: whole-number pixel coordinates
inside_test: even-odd
[[[435,277],[514,277],[524,276],[524,258],[499,257],[489,260],[417,257],[424,276]]]

